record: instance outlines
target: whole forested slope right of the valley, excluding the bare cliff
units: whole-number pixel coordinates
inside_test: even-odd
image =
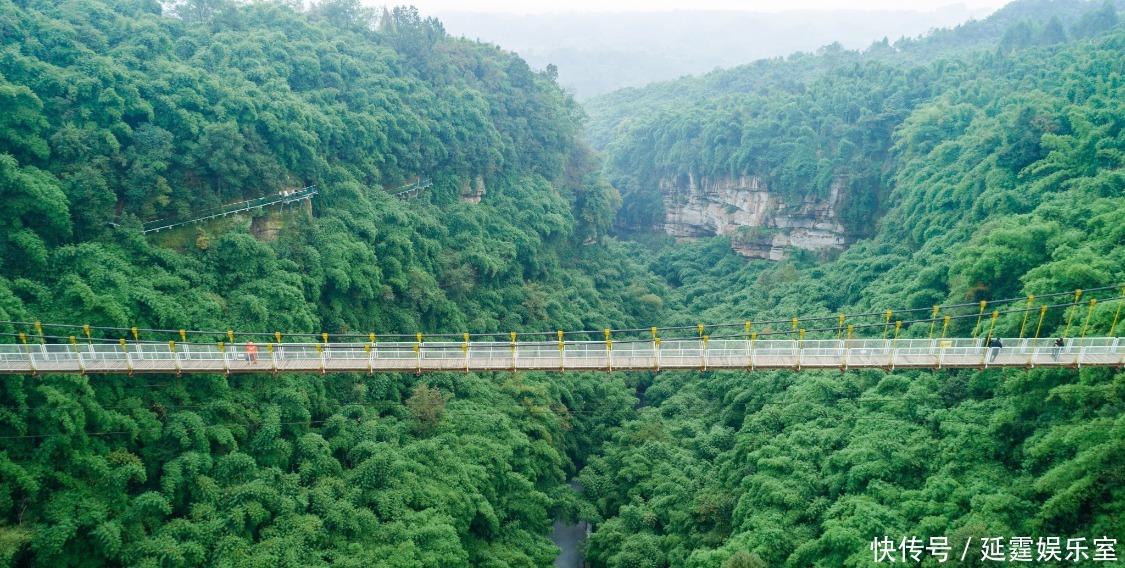
[[[1110,4],[1087,8],[1098,16],[1078,21],[1101,31],[1016,45],[1050,30],[1022,21],[993,46],[917,66],[821,54],[828,69],[799,85],[766,81],[623,126],[609,170],[626,180],[627,216],[655,215],[652,177],[685,172],[758,173],[798,196],[846,175],[853,202],[871,204],[873,236],[838,258],[747,263],[723,238],[634,245],[683,303],[669,323],[1125,281],[1125,31]],[[784,75],[786,63],[763,65]],[[1116,308],[1095,306],[1090,333],[1120,335]],[[1022,324],[1001,316],[994,333]],[[1053,310],[1035,333],[1065,328]],[[958,557],[973,539],[970,566],[989,565],[981,539],[997,537],[1106,537],[1122,557],[1119,370],[660,373],[644,386],[646,408],[580,475],[603,517],[595,566],[867,566],[883,535],[945,537]]]

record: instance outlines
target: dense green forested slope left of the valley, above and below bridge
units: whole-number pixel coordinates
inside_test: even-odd
[[[550,78],[412,9],[291,6],[0,1],[0,321],[116,340],[97,327],[660,317],[657,279],[600,244],[618,196]],[[412,200],[384,189],[416,177]],[[273,237],[140,231],[306,186],[310,211],[254,214]],[[630,409],[623,380],[6,377],[0,564],[550,564],[564,481],[623,417],[583,408]]]

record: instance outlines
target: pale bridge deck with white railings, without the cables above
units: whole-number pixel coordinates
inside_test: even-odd
[[[1125,339],[711,340],[0,345],[0,373],[629,371],[1122,367]],[[254,361],[256,355],[256,361]]]

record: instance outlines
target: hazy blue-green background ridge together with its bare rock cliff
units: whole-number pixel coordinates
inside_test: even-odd
[[[834,44],[598,97],[586,103],[588,135],[605,148],[606,174],[622,195],[622,229],[728,235],[744,254],[771,259],[785,246],[837,249],[873,236],[893,207],[896,160],[910,147],[902,133],[918,109],[965,90],[1030,96],[1058,87],[1047,57],[1117,21],[1113,2],[1016,2],[918,40],[864,52]],[[1000,76],[1008,82],[989,82]],[[1019,126],[1008,136],[1028,139],[1010,142],[1001,162],[1042,157],[1038,136],[1063,119],[1036,112],[1010,119]],[[945,115],[939,132],[953,127]],[[800,210],[821,213],[794,223]],[[810,228],[824,233],[810,238]]]

